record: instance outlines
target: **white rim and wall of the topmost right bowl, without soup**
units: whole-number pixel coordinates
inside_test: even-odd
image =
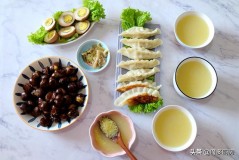
[[[185,16],[188,16],[188,15],[197,15],[197,16],[201,17],[201,18],[207,23],[207,25],[208,25],[208,28],[209,28],[209,36],[208,36],[208,39],[207,39],[203,44],[201,44],[201,45],[199,45],[199,46],[189,46],[189,45],[183,43],[183,42],[180,40],[180,38],[178,37],[178,35],[177,35],[176,28],[177,28],[178,22],[179,22],[181,19],[183,19]],[[212,39],[213,39],[213,37],[214,37],[214,32],[215,32],[215,31],[214,31],[214,26],[213,26],[212,21],[210,20],[210,18],[209,18],[207,15],[205,15],[205,14],[203,14],[203,13],[201,13],[201,12],[196,12],[196,11],[187,11],[187,12],[184,12],[184,13],[182,13],[181,15],[179,15],[179,16],[177,17],[177,19],[176,19],[176,21],[175,21],[175,24],[174,24],[174,34],[175,34],[175,37],[176,37],[178,43],[180,43],[182,46],[188,47],[188,48],[203,48],[203,47],[207,46],[207,45],[212,41]]]

